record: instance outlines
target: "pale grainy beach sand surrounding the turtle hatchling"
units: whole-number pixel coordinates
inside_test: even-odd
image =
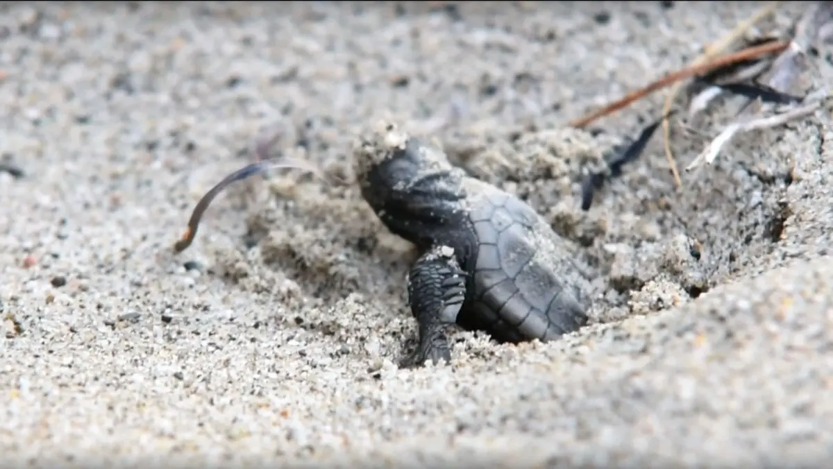
[[[658,117],[665,95],[565,129],[759,7],[4,4],[0,151],[25,175],[0,174],[3,460],[829,462],[830,109],[738,138],[682,192],[658,136],[589,212],[582,164]],[[759,30],[786,30],[802,7]],[[818,52],[810,79],[829,83],[831,47]],[[675,126],[681,167],[725,108]],[[416,334],[416,252],[355,188],[299,172],[218,197],[172,254],[262,129],[281,124],[279,152],[349,174],[352,139],[380,112],[581,246],[594,324],[518,346],[456,332],[450,365],[398,369]]]

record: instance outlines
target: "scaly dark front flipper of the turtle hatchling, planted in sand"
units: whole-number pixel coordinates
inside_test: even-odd
[[[436,246],[417,259],[408,274],[408,303],[419,324],[419,345],[402,367],[425,362],[451,361],[444,328],[456,322],[466,297],[466,272],[460,268],[454,249]]]

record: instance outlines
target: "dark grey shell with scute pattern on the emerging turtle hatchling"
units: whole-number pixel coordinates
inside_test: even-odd
[[[581,297],[589,282],[575,252],[517,197],[466,180],[466,205],[477,237],[472,308],[503,340],[550,340],[586,322]]]

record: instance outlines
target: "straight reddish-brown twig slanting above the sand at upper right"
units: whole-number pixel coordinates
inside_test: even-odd
[[[765,44],[761,44],[760,46],[749,47],[743,49],[738,52],[732,52],[730,54],[726,54],[721,57],[716,57],[715,59],[704,62],[693,64],[688,67],[682,68],[676,72],[672,72],[665,77],[656,80],[656,82],[652,82],[646,87],[643,87],[639,90],[629,92],[622,97],[621,99],[611,102],[605,107],[601,109],[591,112],[589,115],[585,117],[581,117],[581,119],[576,119],[573,122],[570,122],[571,127],[585,127],[590,122],[595,121],[600,117],[605,117],[608,114],[616,112],[623,107],[628,106],[631,102],[635,102],[642,97],[646,97],[651,92],[655,92],[660,90],[664,87],[667,87],[675,82],[679,82],[680,80],[684,80],[689,77],[694,77],[696,75],[701,75],[703,73],[708,73],[717,68],[726,67],[728,65],[732,65],[737,62],[743,62],[746,60],[750,60],[753,58],[764,56],[768,53],[777,53],[781,52],[790,44],[787,41],[773,41],[773,42],[766,42]]]

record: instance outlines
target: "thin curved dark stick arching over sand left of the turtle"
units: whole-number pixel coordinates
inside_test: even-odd
[[[316,177],[322,179],[322,181],[329,182],[329,178],[327,175],[322,172],[322,170],[313,165],[312,163],[305,162],[302,160],[297,159],[277,159],[277,158],[270,158],[264,159],[259,162],[253,162],[252,164],[247,165],[246,167],[242,167],[235,172],[232,172],[227,177],[224,177],[222,181],[217,182],[217,185],[212,187],[205,193],[204,196],[197,202],[197,207],[194,207],[194,211],[191,213],[191,218],[188,220],[188,227],[186,228],[185,232],[182,233],[182,237],[180,237],[179,241],[177,241],[173,245],[174,252],[182,252],[187,247],[191,246],[191,243],[194,241],[194,237],[197,236],[197,227],[199,227],[200,220],[202,219],[202,214],[205,213],[208,206],[214,200],[214,197],[217,197],[217,194],[223,191],[226,187],[228,187],[232,182],[242,181],[243,179],[247,179],[248,177],[256,176],[257,174],[262,174],[269,169],[276,168],[276,169],[301,169],[306,172],[311,172]]]

